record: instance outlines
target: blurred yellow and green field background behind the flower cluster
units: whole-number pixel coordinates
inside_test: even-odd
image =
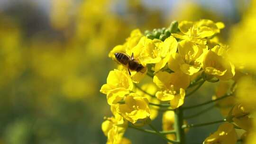
[[[109,51],[132,29],[168,27],[173,20],[222,21],[222,42],[243,20],[250,0],[0,0],[0,144],[104,144],[99,92],[117,65]],[[185,105],[211,99],[206,83]],[[185,115],[201,109],[186,111]],[[218,108],[191,119],[221,119]],[[162,114],[153,121],[161,129]],[[217,125],[193,128],[189,144],[201,143]],[[133,144],[165,144],[128,129]]]

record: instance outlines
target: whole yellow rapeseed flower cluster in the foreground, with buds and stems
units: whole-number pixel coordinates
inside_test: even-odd
[[[229,97],[229,100],[216,103],[227,118],[214,134],[205,139],[204,144],[235,144],[238,140],[235,128],[248,131],[252,119],[248,117],[250,108],[235,100],[235,85],[243,74],[235,71],[234,64],[229,60],[229,46],[219,42],[217,35],[224,27],[223,23],[208,19],[174,22],[169,28],[146,31],[145,35],[135,29],[123,45],[115,46],[109,53],[110,58],[117,63],[133,61],[135,65],[141,64],[143,69],[137,72],[130,69],[128,62],[127,65],[119,63],[101,87],[100,91],[107,95],[107,102],[114,111],[114,118],[102,124],[108,143],[121,144],[128,122],[133,128],[149,125],[155,130],[150,123],[161,109],[166,111],[164,131],[155,130],[155,133],[165,133],[166,137],[162,137],[168,142],[183,144],[181,135],[184,129],[195,126],[183,121],[185,98],[205,81],[220,81],[212,102]],[[126,54],[130,59],[120,60],[116,58],[117,53]],[[141,81],[148,81],[146,76],[153,81],[151,79],[151,82],[141,85]],[[126,126],[119,127],[120,120]],[[170,132],[174,127],[175,134]]]

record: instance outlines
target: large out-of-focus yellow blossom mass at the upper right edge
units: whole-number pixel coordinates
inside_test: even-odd
[[[247,12],[237,25],[232,27],[229,45],[230,59],[235,65],[243,64],[248,70],[256,71],[256,1],[251,0]]]

